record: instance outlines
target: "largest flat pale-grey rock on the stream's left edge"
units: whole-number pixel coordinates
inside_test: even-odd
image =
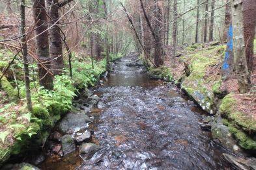
[[[61,120],[57,128],[66,134],[69,130],[74,130],[76,127],[85,127],[91,121],[92,119],[84,113],[69,113]]]

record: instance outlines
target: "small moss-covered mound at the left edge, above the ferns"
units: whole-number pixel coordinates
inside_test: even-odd
[[[0,71],[0,75],[2,75],[3,73]],[[18,93],[16,90],[14,90],[14,88],[12,87],[12,85],[10,84],[10,82],[8,82],[7,78],[4,76],[1,79],[1,88],[7,92],[8,97],[10,97],[10,99],[12,100],[16,100],[18,99]]]

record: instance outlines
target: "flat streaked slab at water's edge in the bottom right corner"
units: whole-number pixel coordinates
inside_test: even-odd
[[[236,158],[235,156],[231,156],[229,154],[223,154],[223,158],[229,162],[234,169],[256,169],[256,158]]]

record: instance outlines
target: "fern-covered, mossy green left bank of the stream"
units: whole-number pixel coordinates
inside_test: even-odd
[[[5,54],[5,51],[1,52],[3,52],[2,55]],[[120,55],[112,56],[112,60],[119,58],[121,58]],[[2,66],[4,62],[1,63]],[[8,64],[8,62],[5,63]],[[20,68],[15,69],[16,75],[18,72],[21,73],[22,66],[19,63],[14,66]],[[34,67],[36,66],[31,66],[31,69]],[[28,113],[25,108],[25,89],[22,84],[22,76],[20,80],[18,79],[19,86],[14,86],[18,83],[14,84],[10,81],[13,80],[12,74],[6,75],[5,79],[1,81],[3,90],[0,91],[0,166],[10,156],[36,151],[38,147],[44,146],[57,121],[72,110],[74,97],[78,97],[81,91],[97,84],[100,76],[106,72],[106,60],[94,61],[92,69],[91,58],[74,56],[72,72],[72,79],[68,76],[68,71],[64,71],[61,76],[56,76],[52,91],[44,90],[38,86],[37,82],[32,82],[33,112],[31,113]],[[31,76],[36,77],[36,75]]]

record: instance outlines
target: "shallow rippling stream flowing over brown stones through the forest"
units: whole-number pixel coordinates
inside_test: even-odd
[[[78,151],[48,158],[42,169],[224,169],[225,151],[201,130],[207,115],[180,90],[152,80],[141,67],[117,62],[102,86],[93,91],[102,108],[92,108],[92,143],[102,148],[82,160]]]

